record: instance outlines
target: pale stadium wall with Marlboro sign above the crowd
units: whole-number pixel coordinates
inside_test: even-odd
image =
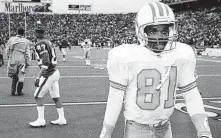
[[[5,2],[8,1],[8,2]],[[15,2],[19,0],[0,0],[0,12],[33,12],[35,6],[45,3]],[[22,1],[22,0],[20,0]],[[29,0],[26,0],[29,1]],[[31,1],[31,0],[30,0]],[[42,0],[41,0],[42,1]],[[44,0],[45,1],[45,0]],[[130,13],[137,12],[147,1],[159,0],[51,0],[50,9],[58,14],[84,13]]]

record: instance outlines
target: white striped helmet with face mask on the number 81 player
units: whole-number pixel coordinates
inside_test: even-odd
[[[148,35],[148,27],[157,25],[168,25],[167,37],[151,37]],[[173,44],[177,38],[175,16],[172,9],[164,3],[150,2],[144,5],[136,15],[135,29],[140,44],[152,51],[169,51],[176,46]],[[164,45],[163,50],[156,48],[159,44]]]

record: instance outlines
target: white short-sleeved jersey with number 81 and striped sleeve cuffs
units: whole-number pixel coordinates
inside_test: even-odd
[[[176,90],[196,87],[193,49],[176,42],[172,51],[156,54],[144,46],[124,44],[108,53],[110,86],[125,91],[124,116],[141,124],[169,119]]]

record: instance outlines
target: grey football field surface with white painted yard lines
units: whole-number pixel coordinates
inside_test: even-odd
[[[105,69],[107,49],[93,49],[91,66],[85,66],[84,52],[79,47],[68,51],[66,62],[57,50],[61,74],[60,95],[68,124],[51,125],[58,118],[49,94],[45,96],[46,127],[31,128],[29,122],[37,119],[34,99],[34,80],[39,72],[36,61],[31,62],[24,83],[24,96],[11,96],[11,79],[7,77],[6,63],[0,67],[0,138],[98,138],[106,108],[109,89]],[[208,113],[213,138],[221,138],[221,60],[197,57],[198,88]],[[177,95],[176,110],[171,118],[174,138],[197,138],[196,130],[184,101]],[[197,105],[196,105],[197,106]],[[120,114],[113,138],[122,138],[123,114]]]

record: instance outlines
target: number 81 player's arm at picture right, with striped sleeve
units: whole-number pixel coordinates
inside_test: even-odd
[[[202,97],[198,91],[195,77],[196,59],[192,53],[181,69],[179,88],[185,99],[187,111],[197,130],[198,138],[212,138],[208,118],[203,106]]]

